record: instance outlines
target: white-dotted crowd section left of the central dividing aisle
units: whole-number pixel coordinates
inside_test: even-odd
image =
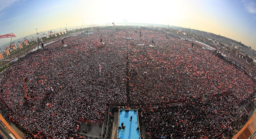
[[[99,39],[98,34],[67,38],[68,47],[50,44],[4,71],[2,99],[12,118],[32,133],[58,139],[82,118],[104,120],[106,103],[126,103],[125,50],[108,38],[99,48]]]

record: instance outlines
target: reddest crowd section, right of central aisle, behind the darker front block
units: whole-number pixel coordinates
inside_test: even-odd
[[[148,33],[150,34],[150,33]],[[159,36],[158,38],[156,36]],[[234,93],[241,101],[255,90],[255,82],[200,44],[149,35],[154,47],[129,48],[130,95],[134,104],[158,104]],[[143,43],[143,40],[135,44]]]

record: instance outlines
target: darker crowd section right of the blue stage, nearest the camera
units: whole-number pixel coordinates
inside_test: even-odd
[[[193,101],[141,106],[149,139],[223,139],[233,137],[246,121],[233,95],[214,97],[206,103]]]

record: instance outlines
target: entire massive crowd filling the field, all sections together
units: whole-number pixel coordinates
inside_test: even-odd
[[[141,32],[101,29],[29,54],[2,73],[2,103],[34,137],[68,137],[81,119],[104,120],[109,104],[141,105],[149,138],[233,135],[256,83],[190,41]]]

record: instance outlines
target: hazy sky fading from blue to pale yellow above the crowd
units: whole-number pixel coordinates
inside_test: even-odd
[[[220,34],[256,50],[256,0],[0,0],[0,35],[112,22],[169,24]],[[14,39],[15,40],[15,39]],[[0,39],[0,45],[10,38]]]

